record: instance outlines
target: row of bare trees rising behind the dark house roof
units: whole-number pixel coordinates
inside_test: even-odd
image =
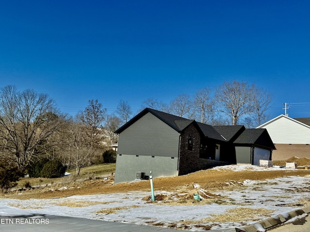
[[[157,109],[209,125],[242,124],[254,128],[267,121],[272,99],[270,92],[255,84],[232,81],[215,88],[201,88],[192,96],[180,94],[169,103],[149,98],[142,108]]]

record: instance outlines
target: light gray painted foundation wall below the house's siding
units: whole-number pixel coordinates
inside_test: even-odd
[[[136,178],[136,172],[150,175],[153,178],[178,175],[178,159],[171,157],[117,155],[114,183],[128,182]]]

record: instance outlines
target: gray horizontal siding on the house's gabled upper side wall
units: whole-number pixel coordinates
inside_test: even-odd
[[[147,113],[119,135],[118,154],[178,157],[180,134]]]

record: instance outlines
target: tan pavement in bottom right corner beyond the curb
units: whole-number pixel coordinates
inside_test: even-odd
[[[297,219],[293,223],[285,224],[268,232],[310,232],[310,216]]]

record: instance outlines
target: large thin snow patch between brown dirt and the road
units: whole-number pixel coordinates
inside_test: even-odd
[[[301,208],[296,207],[300,199],[309,199],[310,177],[288,176],[264,181],[245,181],[244,185],[232,191],[217,191],[213,194],[226,196],[227,204],[194,204],[194,205],[169,205],[146,203],[143,197],[151,195],[151,191],[132,191],[128,193],[99,194],[88,196],[71,196],[60,199],[1,199],[0,216],[16,216],[29,214],[46,214],[69,217],[85,217],[132,224],[150,225],[156,222],[168,226],[171,223],[182,224],[184,220],[200,221],[211,214],[226,214],[226,210],[247,207],[255,210],[264,208],[273,210],[271,215],[260,217],[260,220]],[[201,193],[203,189],[200,189]],[[155,194],[169,195],[171,192],[155,191]],[[201,194],[204,196],[203,194]],[[95,202],[85,207],[62,206],[65,202]],[[20,208],[22,206],[25,209]],[[127,206],[127,207],[125,207]],[[134,207],[133,207],[134,206]],[[124,207],[115,213],[96,213],[101,209]],[[257,221],[244,222],[208,222],[204,225],[212,229],[227,229],[242,227]],[[194,225],[191,231],[201,230]]]

